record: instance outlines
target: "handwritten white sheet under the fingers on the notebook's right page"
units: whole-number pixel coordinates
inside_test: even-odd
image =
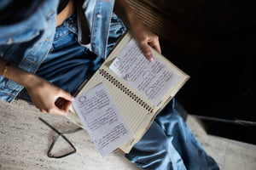
[[[131,39],[109,68],[154,105],[159,105],[162,96],[180,79],[156,57],[154,61],[148,61],[134,39]]]

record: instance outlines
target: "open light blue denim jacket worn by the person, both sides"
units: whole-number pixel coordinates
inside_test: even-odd
[[[86,0],[82,8],[90,31],[90,51],[106,58],[108,30],[114,0]],[[0,3],[0,7],[1,7]],[[35,73],[49,53],[55,35],[58,0],[45,0],[27,20],[12,26],[0,25],[0,57],[20,69]],[[79,37],[83,36],[79,34]],[[81,39],[81,38],[79,38]],[[83,42],[81,42],[83,45]],[[85,45],[85,44],[84,44]],[[23,87],[0,76],[0,99],[11,102]]]

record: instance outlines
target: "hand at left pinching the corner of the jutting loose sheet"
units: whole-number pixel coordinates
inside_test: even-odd
[[[30,82],[25,88],[32,99],[32,103],[40,111],[67,116],[67,111],[73,101],[71,94],[35,75],[30,78]]]

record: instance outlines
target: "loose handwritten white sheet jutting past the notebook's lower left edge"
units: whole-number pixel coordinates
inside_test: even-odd
[[[103,84],[79,95],[73,106],[103,157],[133,138]]]

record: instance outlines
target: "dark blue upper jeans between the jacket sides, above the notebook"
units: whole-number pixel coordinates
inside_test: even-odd
[[[81,83],[104,61],[102,57],[90,52],[89,48],[79,44],[76,19],[73,14],[56,28],[52,48],[36,72],[39,77],[44,77],[71,94],[74,94]],[[125,26],[122,21],[113,14],[109,26],[107,54],[124,32]],[[28,94],[24,91],[19,96],[29,100]]]

